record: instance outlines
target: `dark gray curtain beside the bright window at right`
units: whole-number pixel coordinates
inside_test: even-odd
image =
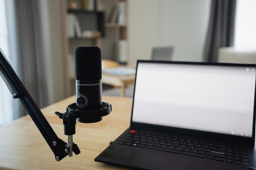
[[[234,46],[236,0],[212,0],[203,61],[217,62],[218,49]]]

